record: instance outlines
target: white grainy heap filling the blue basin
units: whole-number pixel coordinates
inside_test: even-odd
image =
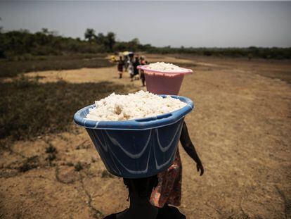
[[[146,118],[170,113],[186,106],[185,103],[171,96],[162,98],[162,96],[143,91],[128,95],[112,93],[100,101],[95,101],[95,105],[96,108],[89,109],[89,114],[86,116],[89,120],[114,121]]]

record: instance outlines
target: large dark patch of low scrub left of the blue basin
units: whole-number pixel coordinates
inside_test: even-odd
[[[112,82],[40,84],[20,77],[0,82],[0,139],[30,139],[69,130],[74,113],[112,92],[125,92]]]

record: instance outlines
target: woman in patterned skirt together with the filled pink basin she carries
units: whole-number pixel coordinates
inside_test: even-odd
[[[138,68],[144,70],[145,79],[147,80],[147,90],[154,94],[177,95],[184,75],[193,73],[190,69],[180,68],[177,65],[164,62],[140,65]],[[200,175],[203,175],[204,168],[202,162],[190,140],[185,122],[183,122],[180,142],[188,156],[195,161],[196,168],[198,172],[200,171]],[[168,204],[180,206],[182,164],[179,148],[177,148],[174,163],[163,173],[159,173],[158,178],[159,182],[151,195],[150,202],[160,208]]]

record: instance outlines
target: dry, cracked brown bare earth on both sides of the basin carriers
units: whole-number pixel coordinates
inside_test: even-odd
[[[291,63],[218,58],[177,62],[194,66],[181,95],[195,101],[186,123],[205,165],[205,175],[199,177],[195,163],[180,149],[180,210],[188,218],[291,218],[291,85],[261,76],[263,71],[273,77],[290,73]],[[127,77],[117,79],[114,70],[28,75],[45,76],[43,82],[62,78],[131,84]],[[51,163],[48,146],[57,150]],[[0,218],[102,218],[128,205],[122,179],[106,172],[86,132],[77,127],[16,142],[11,151],[2,152],[0,167]],[[19,171],[25,168],[30,170]]]

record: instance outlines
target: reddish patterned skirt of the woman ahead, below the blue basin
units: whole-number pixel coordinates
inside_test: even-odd
[[[150,203],[162,208],[164,204],[181,205],[182,164],[179,149],[176,151],[174,163],[164,172],[157,175],[159,182],[152,195]]]

